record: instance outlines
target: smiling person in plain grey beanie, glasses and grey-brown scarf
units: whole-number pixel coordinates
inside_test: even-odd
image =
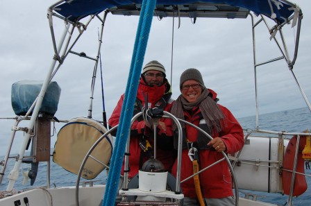
[[[194,127],[181,123],[183,127],[183,152],[180,180],[196,173],[199,169],[224,158],[221,152],[236,153],[244,145],[244,134],[237,119],[224,106],[219,105],[217,93],[205,87],[202,75],[197,69],[186,69],[180,76],[180,96],[171,107],[171,114],[184,119],[213,137],[210,140]],[[176,126],[173,125],[174,133]],[[175,139],[175,138],[174,138]],[[175,145],[175,142],[174,142]],[[194,153],[192,159],[188,153]],[[196,161],[194,161],[196,160]],[[176,175],[177,161],[172,173]],[[198,175],[196,175],[197,177]],[[199,174],[199,183],[190,178],[181,184],[185,196],[183,205],[233,206],[232,181],[226,161],[219,162]]]

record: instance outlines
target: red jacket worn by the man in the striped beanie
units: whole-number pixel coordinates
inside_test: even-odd
[[[170,90],[170,85],[167,83],[167,79],[165,78],[165,83],[161,86],[149,86],[146,85],[143,78],[140,78],[140,84],[137,90],[137,99],[145,105],[144,94],[148,94],[148,103],[149,107],[153,108],[156,103],[160,101],[162,96],[168,94]],[[120,115],[121,115],[121,107],[124,101],[124,94],[121,95],[115,110],[112,112],[110,119],[108,120],[109,126],[113,127],[119,123]],[[169,111],[172,105],[172,99],[169,98],[167,101],[164,110]],[[137,105],[137,103],[136,103]],[[136,106],[135,106],[136,108]],[[140,112],[139,111],[134,111]],[[142,116],[141,116],[142,117]],[[161,118],[160,121],[164,122],[166,125],[166,130],[163,130],[162,127],[158,126],[157,128],[157,151],[156,151],[156,159],[160,160],[162,164],[164,164],[165,169],[171,172],[171,167],[174,164],[176,158],[176,151],[174,151],[173,146],[173,132],[171,127],[171,121],[167,118]],[[148,160],[148,155],[142,151],[140,147],[140,138],[142,136],[147,137],[151,147],[153,148],[153,130],[145,126],[144,120],[139,119],[136,120],[131,126],[131,139],[130,139],[130,153],[129,156],[129,166],[130,171],[128,173],[129,178],[133,178],[140,169],[140,162],[146,162]],[[141,154],[142,153],[142,154]],[[153,151],[152,151],[153,153]],[[124,171],[124,165],[122,166],[122,173]]]

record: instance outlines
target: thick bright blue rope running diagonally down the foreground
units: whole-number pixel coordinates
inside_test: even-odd
[[[146,52],[146,44],[149,38],[155,3],[156,0],[142,1],[142,10],[140,12],[140,22],[137,27],[131,69],[128,75],[128,83],[126,85],[124,103],[122,105],[117,138],[112,153],[110,171],[102,206],[115,205],[115,198],[117,195],[117,187],[120,177],[119,174],[121,173],[121,166],[124,159],[126,140],[131,128],[131,118],[133,116],[134,103],[140,80],[142,63],[144,62],[144,53]]]

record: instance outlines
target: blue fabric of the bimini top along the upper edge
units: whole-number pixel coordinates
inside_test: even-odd
[[[265,15],[267,17],[271,16],[271,9],[268,0],[158,0],[157,4],[167,4],[167,5],[177,5],[177,4],[188,4],[188,3],[225,3],[230,6],[239,6],[252,10],[257,15]],[[280,1],[281,2],[281,1]],[[66,0],[60,6],[57,6],[56,12],[58,12],[63,17],[75,22],[78,19],[86,17],[92,14],[98,14],[107,8],[112,8],[114,6],[123,6],[131,3],[141,4],[142,0]],[[288,10],[292,6],[283,3],[280,10],[272,3],[274,12],[276,13],[276,19],[278,22],[283,23],[284,19],[290,17],[294,11]]]

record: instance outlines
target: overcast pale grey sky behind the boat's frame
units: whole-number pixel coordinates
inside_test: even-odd
[[[53,57],[47,8],[55,2],[51,0],[33,0],[31,3],[29,1],[18,1],[17,3],[17,1],[8,0],[1,2],[0,117],[15,117],[10,99],[12,83],[19,80],[44,80],[45,78]],[[311,98],[311,73],[309,71],[311,28],[308,26],[311,20],[311,13],[308,11],[311,6],[307,0],[294,2],[302,8],[304,13],[299,57],[294,70],[305,89],[305,94]],[[13,7],[14,12],[10,10]],[[108,15],[107,18],[101,58],[108,118],[126,86],[137,22],[138,17]],[[154,18],[152,24],[144,64],[150,60],[158,60],[165,65],[167,78],[170,80],[173,76],[174,98],[180,94],[178,89],[180,74],[183,70],[194,67],[201,70],[205,86],[218,93],[219,103],[229,108],[235,117],[247,117],[255,114],[250,18],[197,19],[196,24],[192,24],[190,19],[183,18],[179,29],[177,29],[176,19],[172,75],[172,19],[166,18],[159,21]],[[94,48],[98,45],[96,40],[99,26],[100,24],[91,24],[87,28],[86,36],[82,38],[83,44],[78,44],[74,51],[84,51],[87,55],[95,56]],[[57,22],[58,37],[63,27],[64,24]],[[260,33],[262,35],[257,36],[260,40],[257,46],[261,52],[258,62],[280,56],[280,53],[274,49],[274,42],[269,42],[267,31],[263,30]],[[289,33],[291,33],[289,37],[292,38],[294,32],[289,31]],[[268,57],[269,53],[271,55]],[[65,64],[54,78],[62,89],[58,112],[55,115],[58,119],[87,117],[93,67],[94,64],[90,60],[81,60],[77,57],[65,60]],[[261,114],[305,107],[299,89],[283,60],[261,67],[258,77],[260,78],[258,92]],[[100,81],[98,72],[92,115],[96,120],[101,120],[103,111]],[[0,155],[3,155],[6,153],[6,145],[11,134],[10,128],[14,121],[2,119],[0,121]],[[60,126],[56,128],[56,132],[59,128]],[[17,135],[15,141],[21,142],[22,134]],[[51,141],[53,146],[56,135],[52,137]],[[18,150],[17,143],[12,151],[17,152]]]

